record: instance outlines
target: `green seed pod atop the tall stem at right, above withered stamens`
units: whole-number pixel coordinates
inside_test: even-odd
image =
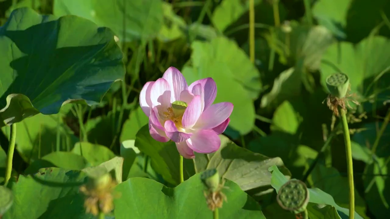
[[[344,73],[332,74],[326,78],[326,87],[333,96],[343,98],[348,91],[349,78]]]

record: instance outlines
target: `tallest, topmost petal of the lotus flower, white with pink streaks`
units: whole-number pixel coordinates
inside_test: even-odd
[[[169,67],[163,78],[168,81],[171,93],[171,102],[178,101],[183,90],[188,89],[187,81],[183,74],[175,67]]]

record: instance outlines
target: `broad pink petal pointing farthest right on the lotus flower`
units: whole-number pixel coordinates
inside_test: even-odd
[[[200,115],[197,123],[194,125],[196,129],[213,129],[222,124],[230,117],[233,111],[231,102],[219,102],[211,105],[202,115]]]

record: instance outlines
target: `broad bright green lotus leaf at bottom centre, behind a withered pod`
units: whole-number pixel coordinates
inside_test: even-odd
[[[261,207],[237,184],[226,180],[225,186],[229,189],[222,190],[227,201],[219,210],[220,218],[265,219]],[[147,178],[130,178],[116,187],[121,197],[114,200],[115,218],[211,219],[213,213],[207,208],[204,189],[200,173],[175,188]]]

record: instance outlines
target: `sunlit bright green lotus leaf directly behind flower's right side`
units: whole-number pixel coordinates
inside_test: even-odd
[[[216,37],[210,42],[195,41],[191,48],[192,67],[183,69],[187,82],[213,78],[218,89],[214,102],[234,104],[229,125],[241,134],[250,132],[255,122],[253,101],[261,89],[260,73],[255,65],[226,37]]]

